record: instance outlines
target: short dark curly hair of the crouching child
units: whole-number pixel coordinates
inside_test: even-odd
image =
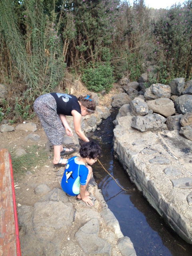
[[[83,158],[95,159],[101,156],[101,148],[94,140],[90,140],[81,145],[79,153]]]

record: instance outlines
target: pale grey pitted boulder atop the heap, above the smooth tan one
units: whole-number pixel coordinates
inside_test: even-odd
[[[146,100],[155,100],[157,98],[170,98],[171,88],[166,84],[152,84],[144,93]]]

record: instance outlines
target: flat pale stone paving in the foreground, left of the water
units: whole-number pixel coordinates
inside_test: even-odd
[[[34,190],[38,202],[18,207],[23,256],[136,256],[93,180],[88,188],[93,207],[46,184]]]

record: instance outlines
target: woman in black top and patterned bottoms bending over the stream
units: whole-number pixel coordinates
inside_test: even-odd
[[[64,166],[67,159],[61,156],[75,151],[74,148],[63,147],[64,134],[73,135],[66,116],[73,116],[76,134],[81,140],[88,142],[88,138],[81,130],[81,117],[94,114],[95,108],[96,103],[89,95],[77,98],[70,94],[52,92],[41,95],[35,100],[34,111],[54,148],[53,164],[55,166]]]

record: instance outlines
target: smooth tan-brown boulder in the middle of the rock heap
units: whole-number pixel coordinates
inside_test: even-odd
[[[158,98],[156,100],[149,100],[148,106],[153,112],[168,117],[175,114],[174,103],[168,98]]]

